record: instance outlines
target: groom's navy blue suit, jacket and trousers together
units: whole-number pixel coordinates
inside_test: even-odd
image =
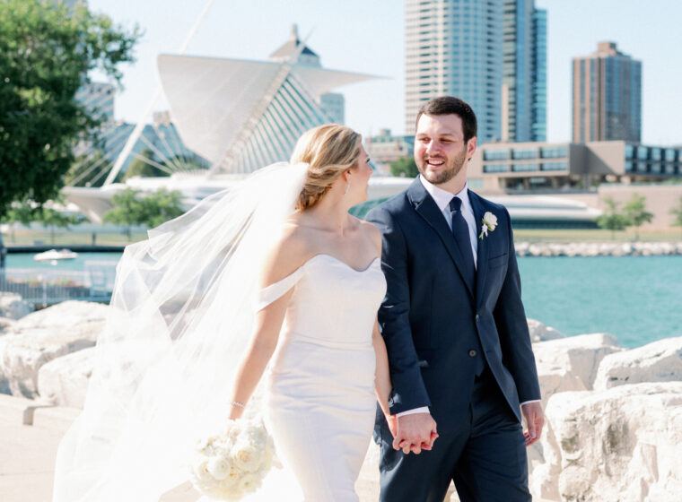
[[[455,237],[419,179],[367,215],[383,234],[381,266],[388,290],[379,323],[393,383],[390,411],[429,406],[441,436],[431,452],[397,452],[390,447],[392,437],[378,411],[381,500],[442,500],[450,479],[462,500],[529,499],[526,486],[510,486],[527,485],[520,402],[539,399],[540,390],[510,217],[502,205],[471,191],[468,195],[478,225],[485,212],[498,221],[494,231],[478,240],[475,284],[460,273],[463,258]],[[478,358],[484,358],[486,368],[481,381],[476,376]],[[511,436],[500,443],[485,438],[491,431],[498,435],[496,428],[511,431]],[[500,456],[510,449],[513,458]],[[478,462],[472,455],[517,463],[511,471],[521,469],[526,477],[510,471],[497,479],[497,473],[485,468],[476,472]],[[480,486],[469,486],[472,478]],[[433,487],[420,490],[415,483]],[[500,489],[504,493],[491,493]],[[510,494],[514,490],[518,497]]]

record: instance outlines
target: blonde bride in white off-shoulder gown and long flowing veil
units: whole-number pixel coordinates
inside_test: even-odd
[[[193,441],[244,412],[264,415],[306,501],[358,500],[390,392],[380,231],[348,213],[372,175],[361,142],[311,129],[291,165],[127,247],[54,502],[158,500],[188,479]]]

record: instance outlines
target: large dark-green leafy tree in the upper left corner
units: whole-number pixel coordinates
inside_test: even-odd
[[[93,69],[120,82],[138,38],[83,4],[0,1],[0,216],[13,201],[57,195],[75,143],[94,141],[103,119],[76,91]]]

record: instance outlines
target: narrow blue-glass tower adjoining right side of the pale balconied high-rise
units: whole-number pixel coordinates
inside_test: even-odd
[[[502,139],[545,141],[546,11],[503,0]]]

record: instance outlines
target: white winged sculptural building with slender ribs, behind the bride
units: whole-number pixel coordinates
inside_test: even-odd
[[[299,39],[295,25],[268,61],[160,55],[158,71],[182,143],[211,168],[170,177],[132,177],[125,184],[109,181],[100,188],[66,187],[68,200],[94,222],[101,222],[112,196],[125,187],[178,190],[191,206],[256,169],[288,160],[305,131],[343,122],[343,96],[329,91],[376,78],[323,68],[319,56]],[[107,179],[117,175],[109,172]],[[370,199],[396,194],[407,182],[373,181]]]

